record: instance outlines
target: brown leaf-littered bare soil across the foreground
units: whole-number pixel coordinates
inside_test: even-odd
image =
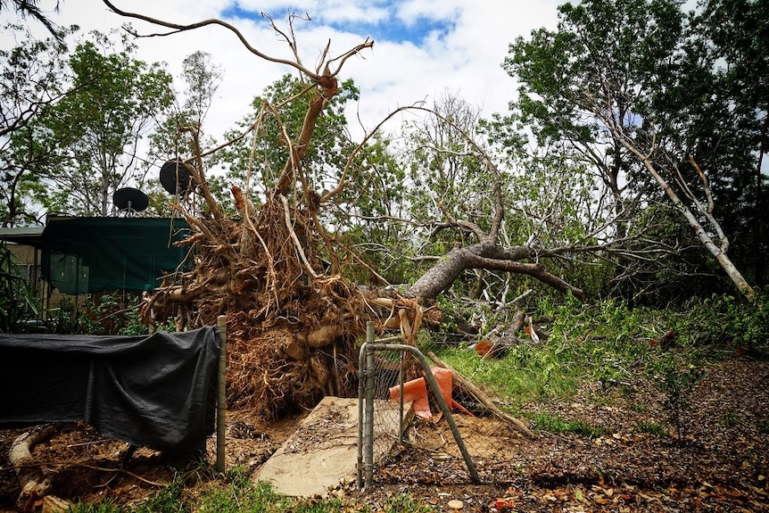
[[[415,420],[407,438],[376,466],[371,486],[360,490],[352,476],[329,493],[372,511],[392,506],[403,493],[439,511],[449,510],[450,501],[461,501],[462,511],[769,511],[767,384],[767,361],[711,364],[690,398],[691,410],[683,413],[681,437],[668,422],[665,396],[641,378],[588,383],[567,402],[526,409],[532,418],[546,414],[572,428],[590,426],[591,433],[550,433],[540,426],[530,439],[493,418],[457,413],[478,483],[445,419]],[[304,417],[264,423],[253,412],[229,411],[227,467],[255,472]],[[17,508],[20,485],[5,456],[21,433],[0,431],[0,511]],[[143,448],[121,467],[127,449],[75,423],[55,426],[33,456],[37,470],[52,480],[52,493],[70,501],[130,506],[170,483],[180,468],[196,469],[200,488],[221,484],[211,470],[213,437],[209,466]]]

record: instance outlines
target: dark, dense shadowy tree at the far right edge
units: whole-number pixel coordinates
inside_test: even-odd
[[[692,128],[699,127],[691,130],[697,137],[694,154],[707,162],[716,211],[732,234],[734,260],[757,285],[766,285],[769,4],[707,0],[700,6],[688,48],[707,64],[688,84],[703,93],[692,122]],[[684,98],[688,94],[682,90]]]

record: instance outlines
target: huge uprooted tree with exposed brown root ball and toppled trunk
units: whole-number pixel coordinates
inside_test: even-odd
[[[318,117],[339,93],[338,75],[344,62],[372,47],[373,41],[334,58],[328,55],[327,46],[317,69],[310,70],[296,52],[293,28],[285,33],[272,24],[294,52],[294,60],[276,59],[261,54],[223,21],[178,25],[121,11],[108,0],[104,3],[122,16],[150,21],[171,33],[219,25],[236,34],[253,54],[285,64],[301,77],[301,95],[308,107],[298,134],[287,132],[280,106],[269,103],[262,106],[252,125],[256,132],[267,117],[277,121],[280,144],[285,145],[288,158],[260,206],[252,203],[248,181],[244,188],[232,188],[238,219],[227,216],[211,193],[203,169],[206,152],[200,148],[194,129],[187,128],[196,148],[186,159],[187,169],[194,194],[203,198],[204,208],[194,212],[179,201],[172,207],[191,228],[191,235],[180,243],[190,247],[191,265],[165,277],[143,305],[147,319],[151,312],[156,317],[174,317],[178,329],[212,325],[220,315],[227,315],[227,401],[231,407],[248,406],[273,417],[296,407],[310,408],[324,394],[351,395],[355,391],[358,339],[366,321],[376,319],[379,327],[400,328],[414,343],[420,326],[440,321],[440,310],[433,300],[464,269],[522,273],[582,296],[580,289],[550,274],[539,261],[525,262],[535,256],[531,247],[500,246],[498,231],[504,207],[499,180],[493,187],[495,207],[490,229],[484,231],[445,211],[443,228],[467,230],[477,239],[475,244],[453,249],[400,294],[392,287],[385,292],[384,288],[352,284],[343,277],[343,270],[345,262],[355,257],[346,256],[344,261],[338,257],[338,243],[327,233],[320,216],[327,202],[343,188],[351,160],[340,173],[340,183],[329,187],[331,192],[320,194],[306,172],[306,157]],[[479,150],[471,151],[499,175]],[[349,248],[345,254],[349,255]],[[541,251],[538,257],[542,256],[548,255]],[[357,259],[356,263],[362,261]],[[376,269],[369,270],[376,275]],[[382,277],[378,281],[385,283]]]

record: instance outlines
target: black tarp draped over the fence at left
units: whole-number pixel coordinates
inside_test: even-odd
[[[204,451],[216,327],[145,336],[0,334],[0,427],[83,420],[161,451]]]

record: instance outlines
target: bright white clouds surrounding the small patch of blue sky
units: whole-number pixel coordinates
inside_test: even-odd
[[[181,0],[112,0],[120,9],[140,12],[164,21],[192,23],[219,18],[221,12],[235,5],[221,0],[188,2]],[[387,22],[393,16],[403,20],[430,19],[453,23],[448,34],[428,36],[415,46],[376,40],[372,50],[345,63],[341,77],[354,79],[360,87],[360,104],[353,107],[349,117],[354,123],[357,113],[367,128],[373,128],[387,113],[402,105],[426,99],[432,103],[446,90],[462,95],[467,102],[482,108],[484,116],[505,112],[513,98],[516,85],[501,63],[508,46],[517,36],[527,36],[532,29],[555,28],[557,0],[404,0],[401,2],[296,0],[292,11],[308,12],[313,21],[296,21],[302,61],[314,68],[327,41],[331,54],[342,54],[362,43],[369,34],[339,32],[322,24],[342,21]],[[41,8],[53,5],[52,0],[40,2]],[[389,7],[388,7],[389,4]],[[127,20],[116,15],[101,0],[62,0],[60,14],[51,14],[62,26],[79,24],[85,30],[103,32],[119,28],[130,21],[141,33],[164,31],[142,21]],[[289,4],[283,0],[244,0],[242,9],[269,12],[274,21],[288,30],[285,13]],[[10,19],[6,9],[0,20]],[[279,16],[283,16],[280,18]],[[233,20],[252,46],[265,54],[291,59],[290,48],[270,29],[269,22]],[[29,21],[30,24],[34,23]],[[38,34],[44,34],[39,27]],[[197,50],[208,52],[213,62],[224,72],[224,81],[209,114],[208,132],[221,138],[227,128],[234,128],[250,109],[255,95],[290,68],[265,62],[250,54],[235,34],[221,27],[206,27],[170,37],[140,39],[139,58],[168,62],[170,71],[178,76],[181,62]],[[7,38],[0,36],[0,45],[7,47]],[[182,87],[178,87],[181,89]]]

